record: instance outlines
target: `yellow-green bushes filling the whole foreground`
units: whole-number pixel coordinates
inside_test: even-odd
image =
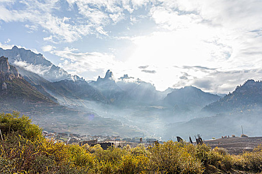
[[[202,174],[262,172],[262,146],[240,156],[183,142],[123,149],[47,141],[19,113],[0,114],[0,174]]]

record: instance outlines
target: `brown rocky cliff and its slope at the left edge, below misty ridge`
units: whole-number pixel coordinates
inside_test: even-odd
[[[8,58],[0,57],[0,111],[9,112],[39,110],[57,104],[32,87],[9,65]]]

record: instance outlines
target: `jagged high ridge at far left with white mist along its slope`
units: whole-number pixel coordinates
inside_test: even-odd
[[[11,65],[16,67],[21,66],[51,82],[65,79],[83,80],[82,78],[72,76],[63,69],[53,65],[50,61],[46,60],[42,54],[35,54],[24,48],[17,48],[16,46],[7,50],[0,48],[0,56],[8,57],[8,61]]]

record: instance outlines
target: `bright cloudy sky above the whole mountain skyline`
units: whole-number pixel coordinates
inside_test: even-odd
[[[262,80],[262,0],[0,0],[0,47],[85,80],[228,93]]]

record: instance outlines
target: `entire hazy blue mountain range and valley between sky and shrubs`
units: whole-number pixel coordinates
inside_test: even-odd
[[[252,135],[260,130],[253,128],[260,118],[262,82],[249,80],[224,97],[192,86],[158,91],[128,75],[115,79],[110,70],[85,81],[16,46],[0,48],[0,56],[0,111],[26,113],[44,129],[165,139],[197,133],[211,138],[234,133],[244,123]]]

